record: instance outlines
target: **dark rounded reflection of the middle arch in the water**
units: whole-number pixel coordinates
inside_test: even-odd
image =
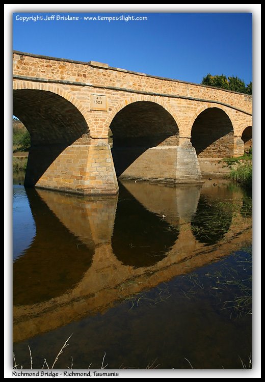
[[[151,266],[162,260],[172,248],[179,228],[148,211],[121,183],[119,189],[112,235],[113,252],[124,265]]]

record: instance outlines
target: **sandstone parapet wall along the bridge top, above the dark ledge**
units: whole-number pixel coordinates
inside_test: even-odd
[[[226,102],[252,113],[252,97],[234,92],[185,83],[169,78],[149,76],[145,73],[112,68],[96,62],[76,62],[33,54],[13,53],[13,73],[30,77],[68,80],[100,86],[133,89],[153,93],[179,94]]]

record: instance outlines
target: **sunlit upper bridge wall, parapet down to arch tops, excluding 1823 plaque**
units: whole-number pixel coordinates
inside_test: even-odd
[[[116,114],[129,103],[155,102],[174,118],[180,137],[190,138],[196,117],[208,107],[229,116],[236,136],[252,125],[252,97],[168,78],[32,54],[13,53],[14,89],[42,89],[60,94],[83,114],[93,138],[107,138]],[[91,111],[90,97],[108,97],[107,111]],[[243,111],[243,112],[242,112]]]

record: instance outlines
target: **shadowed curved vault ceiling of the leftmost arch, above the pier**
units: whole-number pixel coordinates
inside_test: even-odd
[[[84,136],[89,127],[83,114],[67,100],[50,90],[14,89],[13,114],[31,134],[33,145],[62,144],[67,146]]]

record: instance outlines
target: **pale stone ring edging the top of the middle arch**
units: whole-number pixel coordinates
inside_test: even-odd
[[[179,134],[181,136],[181,134],[182,134],[182,124],[181,124],[181,122],[179,120],[179,117],[177,116],[177,114],[172,109],[172,107],[169,106],[167,102],[163,101],[161,99],[161,97],[147,96],[147,95],[144,95],[144,94],[139,94],[137,96],[133,96],[133,97],[129,97],[129,98],[124,99],[122,102],[120,102],[117,106],[115,106],[113,108],[112,112],[109,114],[109,116],[108,116],[108,118],[106,120],[104,137],[108,136],[108,129],[109,129],[113,119],[115,118],[115,116],[124,107],[128,106],[131,103],[135,103],[135,102],[139,102],[139,101],[153,102],[153,103],[157,103],[158,105],[162,106],[172,116],[172,118],[175,120],[175,122],[176,122],[176,124],[178,126]]]

